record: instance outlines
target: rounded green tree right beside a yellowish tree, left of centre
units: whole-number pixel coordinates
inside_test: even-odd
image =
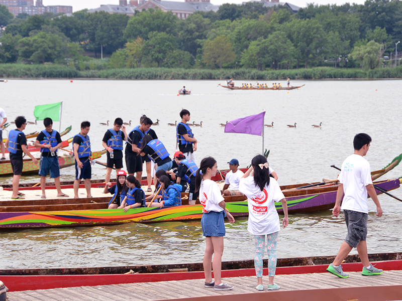
[[[177,49],[177,44],[171,34],[151,32],[144,43],[142,52],[144,57],[151,62],[156,62],[160,67],[166,56],[175,49]]]

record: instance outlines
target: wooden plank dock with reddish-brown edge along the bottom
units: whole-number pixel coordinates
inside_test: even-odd
[[[142,301],[188,300],[402,300],[402,270],[387,270],[378,276],[362,276],[348,272],[349,278],[338,278],[330,273],[276,275],[275,283],[281,289],[257,291],[255,276],[223,279],[233,290],[216,291],[204,287],[204,279],[139,282],[98,286],[80,286],[8,292],[10,301]],[[0,277],[1,280],[1,277]],[[268,283],[268,276],[263,276]],[[266,289],[266,288],[265,288]],[[269,295],[268,295],[269,294]]]

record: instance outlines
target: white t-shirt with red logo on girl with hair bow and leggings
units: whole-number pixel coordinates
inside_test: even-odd
[[[269,179],[264,190],[255,185],[254,178],[240,179],[239,191],[247,196],[248,226],[247,231],[253,235],[265,235],[280,230],[279,215],[274,202],[284,199],[278,182]]]

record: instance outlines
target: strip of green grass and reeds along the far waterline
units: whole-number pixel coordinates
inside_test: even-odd
[[[110,79],[336,79],[336,78],[402,78],[402,67],[380,68],[369,71],[316,67],[310,69],[266,70],[255,69],[168,69],[136,68],[78,71],[63,65],[0,64],[0,74],[7,78],[110,78]]]

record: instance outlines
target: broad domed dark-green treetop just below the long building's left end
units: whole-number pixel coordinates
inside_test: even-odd
[[[124,30],[124,38],[127,41],[135,40],[137,37],[147,39],[151,32],[176,35],[177,22],[177,17],[170,12],[148,9],[130,18]]]

